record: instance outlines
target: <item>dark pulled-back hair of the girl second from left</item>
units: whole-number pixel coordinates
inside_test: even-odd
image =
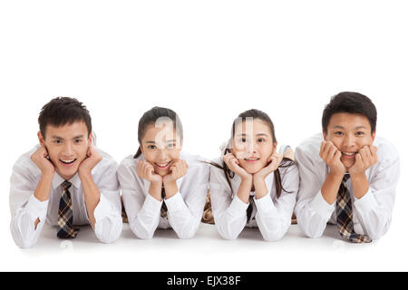
[[[179,115],[170,109],[161,108],[161,107],[153,107],[151,110],[146,111],[143,116],[141,116],[141,120],[139,120],[139,128],[138,128],[138,140],[139,140],[139,149],[133,158],[138,158],[141,156],[141,140],[146,133],[146,129],[149,125],[155,124],[160,118],[169,118],[170,121],[173,122],[173,128],[179,132],[180,139],[183,140],[183,127],[181,125],[181,121]]]

